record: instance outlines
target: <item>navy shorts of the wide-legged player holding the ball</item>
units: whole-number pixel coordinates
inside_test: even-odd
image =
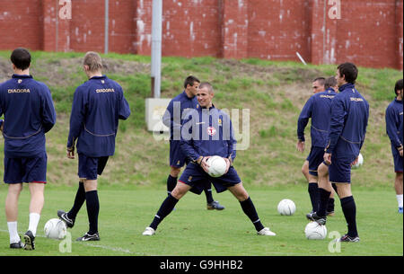
[[[236,170],[231,166],[229,171],[221,177],[209,176],[198,164],[187,164],[184,172],[182,172],[180,182],[188,184],[192,189],[190,191],[200,194],[206,188],[206,181],[212,182],[217,193],[227,190],[242,182]]]

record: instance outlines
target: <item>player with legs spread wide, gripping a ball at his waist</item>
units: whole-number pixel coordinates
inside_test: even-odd
[[[233,167],[236,140],[233,137],[232,121],[227,114],[215,108],[213,97],[211,84],[199,85],[197,98],[200,108],[190,113],[190,118],[184,122],[181,130],[181,148],[190,158],[190,163],[180,176],[180,183],[162,202],[152,224],[145,228],[144,235],[153,235],[163,218],[171,213],[172,208],[189,190],[200,194],[206,180],[212,181],[218,193],[224,190],[232,192],[240,201],[243,212],[255,226],[257,234],[275,235],[261,224],[254,204]],[[206,162],[212,155],[224,157],[227,167],[223,176],[214,178],[207,174],[209,170]]]

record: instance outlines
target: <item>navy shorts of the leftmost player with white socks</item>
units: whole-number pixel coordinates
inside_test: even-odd
[[[38,157],[4,157],[4,182],[47,183],[48,155],[43,153]]]

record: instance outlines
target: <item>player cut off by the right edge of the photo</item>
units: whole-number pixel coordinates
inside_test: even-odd
[[[396,82],[396,85],[394,86],[394,92],[396,93],[396,98],[389,104],[386,109],[386,131],[391,141],[391,153],[394,160],[394,172],[396,172],[394,189],[396,190],[397,202],[399,203],[399,213],[402,214],[402,79]]]

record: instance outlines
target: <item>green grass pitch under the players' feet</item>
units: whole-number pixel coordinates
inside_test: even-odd
[[[57,217],[57,209],[68,210],[75,197],[75,186],[49,187],[45,191],[45,207],[38,227],[35,251],[10,250],[6,222],[0,223],[0,254],[13,256],[402,256],[402,215],[396,210],[392,190],[353,188],[357,206],[360,243],[342,243],[340,249],[331,243],[335,238],[307,240],[304,217],[310,211],[310,200],[304,185],[294,187],[252,188],[250,197],[264,225],[277,233],[275,237],[259,236],[250,220],[230,192],[214,195],[226,207],[224,211],[206,210],[205,195],[188,193],[163,220],[154,236],[143,236],[165,198],[163,189],[105,187],[99,190],[100,242],[78,243],[75,238],[88,229],[85,204],[71,233],[71,246],[66,241],[48,239],[43,226],[49,218]],[[4,200],[6,186],[0,187]],[[20,198],[20,234],[28,227],[29,191]],[[280,216],[277,203],[293,199],[294,216]],[[0,204],[4,212],[4,203]],[[4,218],[4,217],[3,217]],[[336,215],[328,218],[328,233],[345,234],[345,219],[336,199]],[[61,248],[62,247],[62,248]]]

